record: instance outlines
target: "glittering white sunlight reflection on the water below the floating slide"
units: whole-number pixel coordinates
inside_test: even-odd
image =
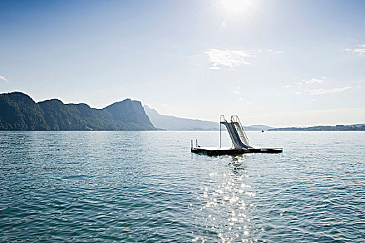
[[[203,224],[221,242],[257,242],[261,229],[255,228],[251,219],[252,210],[257,208],[252,203],[256,194],[248,184],[245,156],[232,158],[228,166],[228,171],[210,173],[210,184],[202,187],[197,197],[201,202],[198,210],[205,216]],[[205,234],[197,235],[192,242],[208,239]]]

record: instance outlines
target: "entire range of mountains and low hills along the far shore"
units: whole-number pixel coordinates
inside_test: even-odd
[[[244,126],[246,131],[365,131],[365,124],[272,128]],[[22,92],[0,94],[0,131],[218,131],[219,123],[160,115],[140,101],[124,99],[102,109],[60,99],[35,102]]]

